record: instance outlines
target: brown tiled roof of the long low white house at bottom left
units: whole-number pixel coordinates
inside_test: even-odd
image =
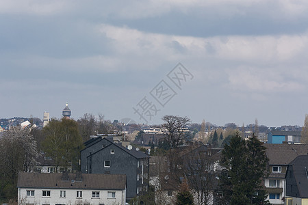
[[[75,180],[76,174],[68,174],[68,180],[62,180],[62,173],[18,174],[17,187],[46,189],[100,189],[124,190],[125,174],[82,174],[82,180]],[[73,181],[74,180],[74,181]]]

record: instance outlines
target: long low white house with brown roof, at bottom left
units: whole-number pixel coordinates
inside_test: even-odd
[[[21,172],[17,188],[18,205],[124,205],[126,176]]]

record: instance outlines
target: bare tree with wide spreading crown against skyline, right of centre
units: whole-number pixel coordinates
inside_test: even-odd
[[[175,115],[165,115],[162,120],[161,130],[166,134],[166,141],[170,149],[176,149],[181,143],[185,142],[185,128],[190,122],[188,117],[180,117]]]

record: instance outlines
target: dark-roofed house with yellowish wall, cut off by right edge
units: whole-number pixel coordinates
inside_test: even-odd
[[[287,168],[285,204],[308,204],[308,155],[297,156]]]

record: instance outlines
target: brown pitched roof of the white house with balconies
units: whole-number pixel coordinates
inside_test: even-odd
[[[307,155],[308,144],[265,143],[270,165],[288,165],[298,155]]]

